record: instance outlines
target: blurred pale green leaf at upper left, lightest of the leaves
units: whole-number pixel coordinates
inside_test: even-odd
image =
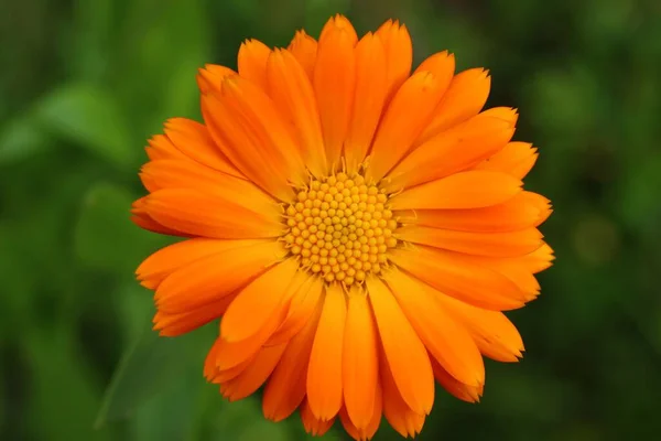
[[[98,86],[59,87],[37,105],[37,115],[47,129],[119,166],[129,166],[138,158],[140,149],[115,97]]]

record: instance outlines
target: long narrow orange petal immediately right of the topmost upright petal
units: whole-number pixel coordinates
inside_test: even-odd
[[[345,141],[345,160],[349,174],[358,171],[377,130],[388,93],[386,51],[381,40],[367,33],[355,49],[356,92],[349,131]]]

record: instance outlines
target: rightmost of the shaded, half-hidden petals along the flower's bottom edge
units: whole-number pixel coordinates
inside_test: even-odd
[[[425,415],[414,412],[402,399],[383,354],[379,366],[383,388],[383,416],[399,434],[414,438],[422,430]]]

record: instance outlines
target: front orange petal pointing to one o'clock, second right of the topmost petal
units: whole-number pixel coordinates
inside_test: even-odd
[[[443,89],[429,72],[411,76],[388,106],[371,149],[366,178],[380,181],[411,149]]]

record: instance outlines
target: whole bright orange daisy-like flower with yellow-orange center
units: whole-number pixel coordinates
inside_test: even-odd
[[[201,69],[204,123],[171,119],[147,149],[133,220],[185,238],[138,269],[154,327],[223,318],[206,378],[230,400],[264,386],[264,416],[299,409],[313,434],[339,418],[370,439],[386,416],[414,435],[434,379],[477,401],[483,355],[523,351],[501,311],[533,300],[553,259],[517,111],[480,112],[488,73],[455,75],[447,52],[411,63],[392,21],[247,41],[238,73]]]

